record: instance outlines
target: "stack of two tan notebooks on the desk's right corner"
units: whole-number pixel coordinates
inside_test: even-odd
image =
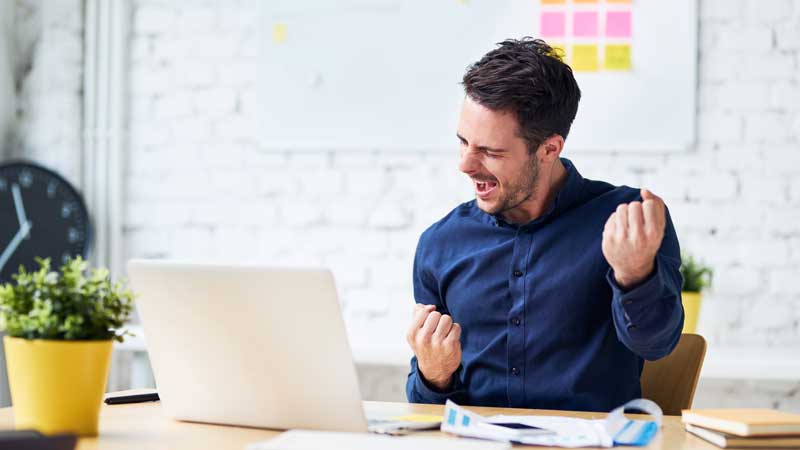
[[[800,415],[773,409],[686,409],[686,431],[719,447],[798,448]]]

